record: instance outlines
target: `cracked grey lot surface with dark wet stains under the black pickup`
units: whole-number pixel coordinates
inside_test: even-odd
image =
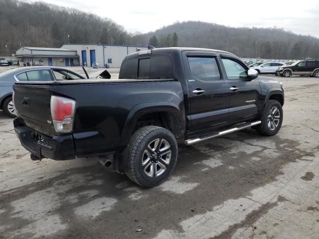
[[[181,144],[175,171],[152,189],[95,158],[31,161],[0,111],[0,238],[318,239],[319,79],[279,79],[276,136]]]

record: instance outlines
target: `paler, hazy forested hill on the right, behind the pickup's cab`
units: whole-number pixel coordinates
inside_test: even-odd
[[[228,50],[241,57],[272,59],[319,58],[319,38],[297,35],[279,28],[235,28],[214,23],[187,21],[162,27],[145,35],[176,32],[178,46]]]

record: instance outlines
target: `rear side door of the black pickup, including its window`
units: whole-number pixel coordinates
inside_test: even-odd
[[[187,119],[191,131],[223,126],[229,117],[229,89],[213,52],[183,52],[189,88]]]

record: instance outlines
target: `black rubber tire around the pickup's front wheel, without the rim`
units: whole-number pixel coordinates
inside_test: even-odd
[[[268,126],[268,117],[269,117],[269,112],[272,108],[277,107],[277,109],[279,110],[280,113],[280,120],[278,123],[278,126],[274,129],[271,130],[270,127]],[[256,127],[256,130],[258,133],[260,133],[261,135],[265,135],[265,136],[272,136],[278,133],[278,131],[280,130],[280,127],[283,123],[283,108],[281,106],[281,104],[278,101],[275,100],[269,100],[269,102],[267,103],[267,105],[264,108],[263,111],[263,115],[261,117],[261,124],[258,124]]]

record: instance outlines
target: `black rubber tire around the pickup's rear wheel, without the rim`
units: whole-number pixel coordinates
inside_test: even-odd
[[[171,157],[166,170],[159,176],[148,176],[142,167],[143,155],[148,145],[155,139],[165,139],[170,146]],[[145,126],[135,131],[128,145],[128,162],[125,174],[142,187],[151,188],[164,182],[173,171],[178,155],[177,141],[167,129],[159,126]]]

